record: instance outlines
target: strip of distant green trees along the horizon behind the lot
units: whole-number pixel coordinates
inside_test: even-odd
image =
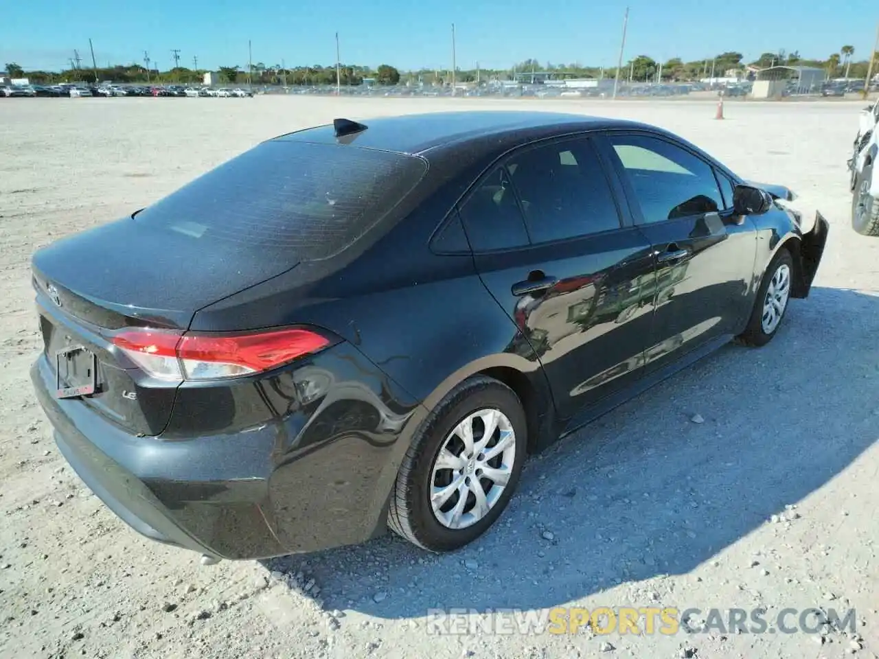
[[[748,67],[765,69],[770,66],[806,66],[825,69],[828,77],[853,77],[863,79],[868,75],[867,60],[854,61],[854,47],[843,46],[839,53],[830,54],[825,60],[806,59],[798,51],[791,53],[781,49],[776,53],[763,53],[753,62],[745,62],[741,53],[727,52],[714,57],[683,62],[674,57],[666,62],[654,60],[649,55],[640,54],[626,62],[620,71],[623,81],[633,82],[687,82],[709,76],[723,77],[728,73],[737,72],[745,77]],[[333,85],[337,83],[337,67],[335,64],[324,66],[296,66],[282,68],[280,64],[266,66],[258,62],[247,70],[238,65],[222,66],[214,72],[220,77],[221,83],[255,84],[255,85]],[[62,71],[25,71],[14,62],[6,64],[6,71],[11,77],[26,77],[32,83],[53,84],[63,82],[91,81],[96,75],[94,69],[66,69]],[[187,69],[175,67],[170,70],[147,69],[139,63],[98,67],[98,80],[109,80],[115,83],[201,83],[207,69]],[[457,69],[454,79],[460,83],[487,82],[490,80],[512,80],[517,75],[549,72],[555,75],[575,77],[612,77],[614,69],[602,69],[584,66],[579,62],[570,64],[554,64],[528,59],[518,62],[510,69]],[[446,84],[451,82],[451,71],[446,69],[418,69],[401,72],[389,64],[372,69],[367,66],[341,64],[338,67],[338,82],[343,85],[359,85],[364,79],[374,79],[377,84],[425,83]]]

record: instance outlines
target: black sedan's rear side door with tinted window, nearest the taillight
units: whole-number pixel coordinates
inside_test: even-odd
[[[586,137],[543,141],[461,205],[476,269],[541,359],[564,419],[638,377],[650,332],[650,241],[614,185]]]

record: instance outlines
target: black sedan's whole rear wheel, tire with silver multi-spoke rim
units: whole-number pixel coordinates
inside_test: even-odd
[[[475,449],[478,449],[479,441],[483,438],[483,421],[469,421],[480,410],[483,414],[495,410],[503,418],[494,414],[498,421],[497,430],[492,433],[483,452],[471,452],[470,460],[461,460],[459,453],[466,455],[468,452],[461,440],[460,428],[465,423],[469,424]],[[509,431],[513,433],[512,438]],[[503,445],[506,446],[503,450],[498,449],[502,439],[505,439]],[[491,449],[501,453],[490,457],[488,462],[479,457],[483,453],[490,455]],[[509,503],[519,483],[526,449],[525,410],[515,392],[502,382],[483,375],[464,380],[439,402],[412,439],[391,495],[389,527],[404,539],[432,552],[453,551],[476,540],[494,524]],[[457,462],[461,467],[438,467],[435,470],[441,452],[446,460]],[[490,468],[494,474],[499,471],[508,474],[503,488],[496,490],[499,486],[484,475],[487,472],[483,472],[480,465],[488,465],[485,468]],[[501,468],[495,471],[498,465]],[[465,478],[469,479],[469,486],[461,485]],[[488,506],[484,514],[476,514],[477,487],[483,491],[482,501]],[[436,494],[440,489],[452,493],[439,506],[439,512],[435,512],[431,492]],[[462,491],[466,498],[461,511],[458,511]],[[459,512],[457,526],[454,525],[455,511]],[[440,521],[440,516],[445,522]]]

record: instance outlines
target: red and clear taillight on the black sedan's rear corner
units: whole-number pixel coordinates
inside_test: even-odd
[[[331,344],[313,329],[247,334],[184,334],[166,329],[124,329],[113,344],[159,380],[218,380],[261,373]]]

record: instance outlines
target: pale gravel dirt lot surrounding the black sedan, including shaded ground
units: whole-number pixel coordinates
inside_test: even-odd
[[[810,298],[765,349],[725,348],[531,460],[498,526],[457,554],[389,536],[202,567],[142,540],[65,466],[34,402],[33,250],[272,135],[452,105],[642,119],[745,177],[790,185],[832,222]],[[877,656],[879,240],[848,226],[845,169],[860,106],[730,102],[716,121],[713,104],[688,101],[0,101],[0,655]],[[426,619],[432,607],[556,605],[701,618],[763,606],[770,623],[786,607],[854,607],[857,630],[437,635]]]

